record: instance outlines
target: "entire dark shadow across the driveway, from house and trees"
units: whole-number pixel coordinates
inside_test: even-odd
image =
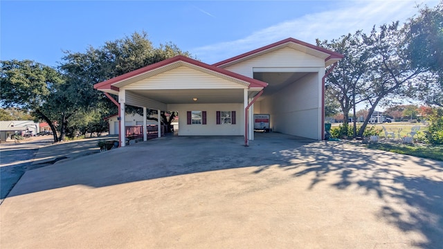
[[[443,245],[441,162],[356,147],[314,142],[278,133],[257,134],[250,147],[242,137],[165,137],[26,172],[9,196],[72,185],[107,187],[198,172],[251,167],[266,174],[278,167],[289,178],[310,177],[306,189],[328,185],[355,194],[376,194],[374,214],[405,232],[419,232],[422,248]],[[330,178],[338,181],[330,183]],[[264,186],[266,187],[266,186]],[[8,197],[9,197],[8,196]]]

